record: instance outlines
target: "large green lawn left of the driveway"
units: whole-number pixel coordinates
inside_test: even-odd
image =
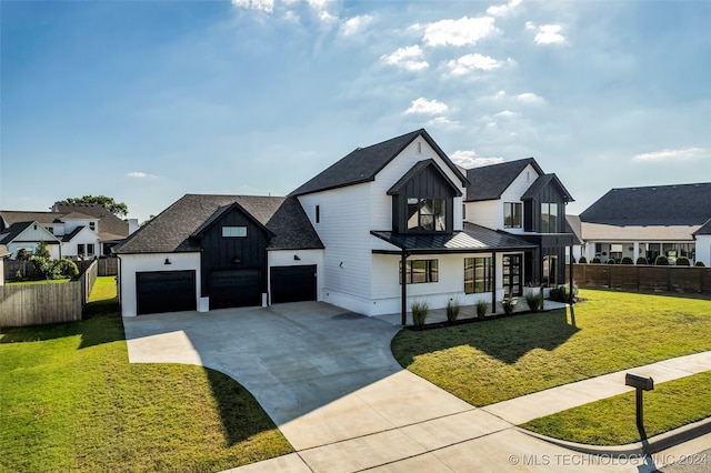
[[[88,320],[0,334],[0,470],[208,472],[293,451],[230,378],[129,364],[114,279],[91,296]]]

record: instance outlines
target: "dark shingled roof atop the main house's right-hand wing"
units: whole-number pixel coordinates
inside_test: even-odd
[[[539,174],[543,170],[533,158],[507,161],[499,164],[482,165],[467,170],[467,202],[498,200],[527,165],[531,164]],[[564,189],[564,188],[563,188]]]

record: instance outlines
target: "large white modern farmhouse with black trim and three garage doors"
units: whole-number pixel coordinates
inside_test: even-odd
[[[287,198],[184,195],[117,248],[122,314],[319,300],[404,316],[417,300],[497,303],[544,272],[562,282],[570,198],[531,165],[515,201],[548,213],[520,232],[500,230],[504,201],[500,221],[477,220],[475,201],[464,221],[463,191],[479,189],[424,130],[358,148]]]

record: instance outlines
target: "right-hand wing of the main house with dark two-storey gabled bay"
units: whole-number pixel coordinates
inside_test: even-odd
[[[565,221],[573,199],[555,174],[533,158],[467,171],[467,220],[515,235],[533,250],[503,259],[504,293],[521,295],[527,283],[564,283],[565,264],[577,239]]]

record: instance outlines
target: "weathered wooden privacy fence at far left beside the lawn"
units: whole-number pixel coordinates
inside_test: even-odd
[[[87,299],[97,281],[92,263],[76,281],[58,284],[0,285],[0,326],[71,322],[83,316]]]

